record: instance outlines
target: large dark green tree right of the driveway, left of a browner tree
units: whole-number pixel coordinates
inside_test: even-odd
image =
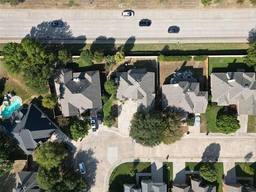
[[[137,113],[131,121],[130,136],[143,146],[154,147],[163,141],[166,126],[159,111],[151,114]]]

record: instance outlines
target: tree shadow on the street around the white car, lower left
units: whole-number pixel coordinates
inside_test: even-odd
[[[76,154],[76,164],[79,162],[84,162],[86,174],[85,180],[87,182],[87,189],[90,189],[95,185],[97,166],[99,161],[94,156],[93,149],[79,150]]]

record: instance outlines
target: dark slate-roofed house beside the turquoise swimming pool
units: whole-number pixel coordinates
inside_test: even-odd
[[[45,143],[58,129],[47,115],[36,105],[15,111],[8,122],[2,125],[4,132],[27,154]]]

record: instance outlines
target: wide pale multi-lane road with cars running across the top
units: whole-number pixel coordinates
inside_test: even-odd
[[[134,10],[133,18],[122,18],[123,10],[1,10],[0,37],[13,41],[25,36],[41,38],[216,38],[246,42],[256,26],[255,9],[239,10]],[[141,19],[150,19],[150,27],[139,27]],[[62,19],[62,28],[50,21]],[[168,34],[170,26],[179,26],[178,34]],[[242,40],[241,40],[242,39]],[[6,40],[5,40],[6,41]],[[3,42],[3,41],[2,41]],[[155,42],[157,43],[157,42]]]

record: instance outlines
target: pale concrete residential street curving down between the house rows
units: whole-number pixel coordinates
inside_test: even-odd
[[[173,145],[147,148],[111,130],[90,133],[76,144],[76,163],[85,162],[91,191],[107,191],[111,172],[124,162],[139,158],[141,162],[244,162],[244,156],[256,153],[256,137],[184,137]],[[250,162],[256,161],[254,155]]]

